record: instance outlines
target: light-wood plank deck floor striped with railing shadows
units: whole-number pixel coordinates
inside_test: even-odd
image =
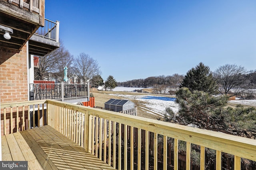
[[[2,160],[27,160],[29,170],[114,169],[49,125],[2,136]]]

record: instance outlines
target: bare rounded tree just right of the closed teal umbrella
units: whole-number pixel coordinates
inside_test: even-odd
[[[81,53],[75,60],[76,74],[82,76],[82,80],[85,83],[87,80],[92,79],[93,76],[100,74],[100,67],[98,62],[94,60],[90,55]]]

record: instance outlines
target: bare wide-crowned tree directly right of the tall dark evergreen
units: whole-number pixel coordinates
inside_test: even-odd
[[[248,73],[243,66],[236,64],[226,64],[219,66],[215,72],[214,77],[220,86],[219,92],[228,94],[230,90],[234,94],[238,94],[247,89],[248,81],[246,81],[245,74]]]

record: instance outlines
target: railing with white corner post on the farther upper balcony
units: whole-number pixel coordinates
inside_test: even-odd
[[[39,27],[34,35],[59,42],[59,21],[44,20],[44,27]]]

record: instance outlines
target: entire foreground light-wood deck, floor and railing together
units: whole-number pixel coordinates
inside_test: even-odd
[[[255,169],[255,139],[56,100],[1,103],[1,124],[2,160],[30,169]]]

